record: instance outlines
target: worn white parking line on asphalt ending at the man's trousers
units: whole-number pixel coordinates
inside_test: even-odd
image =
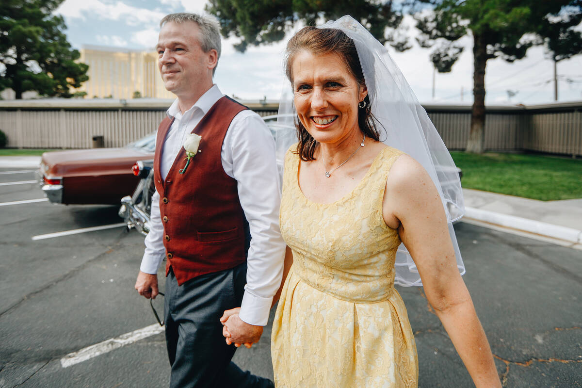
[[[134,330],[130,333],[125,333],[119,337],[110,338],[98,344],[94,344],[83,348],[74,353],[69,353],[65,357],[61,358],[61,366],[63,368],[68,368],[69,366],[79,364],[79,362],[87,361],[98,355],[108,353],[112,350],[132,344],[136,341],[143,340],[144,338],[154,336],[155,334],[164,331],[162,326],[154,323],[150,326],[145,326],[145,328]]]

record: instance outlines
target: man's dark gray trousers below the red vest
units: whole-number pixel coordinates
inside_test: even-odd
[[[172,270],[166,278],[164,316],[171,388],[273,387],[230,361],[236,347],[227,345],[219,318],[239,307],[246,284],[246,262],[208,273],[178,286]]]

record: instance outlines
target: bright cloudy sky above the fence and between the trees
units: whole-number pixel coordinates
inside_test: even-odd
[[[81,45],[105,45],[127,49],[153,49],[157,42],[159,20],[173,12],[203,12],[205,0],[65,0],[56,11],[65,17],[66,34],[75,48]],[[430,49],[414,41],[414,20],[406,17],[413,48],[404,53],[388,48],[402,69],[420,102],[472,104],[473,55],[470,37],[460,44],[465,49],[447,74],[437,74],[435,99],[432,99],[432,63]],[[242,99],[278,99],[283,81],[284,41],[274,45],[250,47],[244,54],[232,47],[233,38],[223,40],[222,56],[215,83],[222,92]],[[527,57],[513,63],[502,59],[487,62],[486,103],[544,104],[553,102],[553,62],[544,49],[531,48]],[[582,100],[582,55],[558,63],[559,101]],[[517,92],[512,98],[508,90]],[[463,97],[462,97],[462,91]]]

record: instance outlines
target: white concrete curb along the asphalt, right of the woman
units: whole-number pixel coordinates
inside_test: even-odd
[[[571,227],[552,225],[546,222],[469,207],[465,208],[464,218],[539,234],[540,236],[551,237],[556,240],[565,240],[573,244],[582,244],[582,230]]]

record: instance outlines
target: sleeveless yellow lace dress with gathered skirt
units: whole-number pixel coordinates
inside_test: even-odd
[[[384,148],[352,193],[317,204],[297,184],[299,156],[287,152],[279,217],[293,266],[272,329],[276,387],[417,386],[416,345],[394,289],[400,238],[382,218],[400,154]]]

